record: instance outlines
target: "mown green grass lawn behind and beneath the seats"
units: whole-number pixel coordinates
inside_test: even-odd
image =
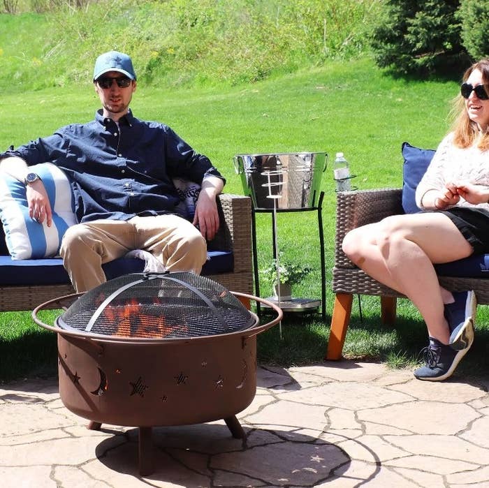
[[[227,179],[226,192],[242,193],[233,156],[251,152],[327,151],[330,161],[343,151],[359,188],[398,187],[402,182],[400,147],[407,140],[436,147],[448,130],[450,101],[457,82],[406,81],[384,75],[369,59],[331,61],[240,87],[170,89],[138,85],[132,108],[136,117],[170,125],[210,156]],[[2,96],[0,148],[19,145],[73,121],[92,119],[98,98],[92,84]],[[335,186],[331,167],[321,189],[328,283],[333,265]],[[320,297],[318,229],[314,212],[279,214],[278,242],[286,256],[314,271],[294,288],[298,297]],[[270,215],[257,215],[258,261],[271,259]],[[261,286],[262,296],[270,288]],[[326,352],[333,293],[328,284],[327,318],[289,314],[279,328],[261,334],[258,359],[289,366],[321,360]],[[344,353],[347,357],[410,366],[425,346],[425,326],[407,300],[398,305],[396,327],[380,324],[379,300],[362,297],[363,323],[354,303]],[[460,365],[487,371],[487,307],[479,307],[477,337]],[[263,318],[263,320],[266,320]],[[40,330],[30,313],[0,314],[0,378],[41,374],[56,366],[54,334]]]

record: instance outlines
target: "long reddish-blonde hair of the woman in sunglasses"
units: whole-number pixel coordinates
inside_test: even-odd
[[[472,71],[475,70],[479,70],[482,73],[483,83],[489,84],[489,59],[481,59],[481,61],[472,64],[472,66],[465,71],[462,81],[466,82],[472,74]],[[458,147],[469,147],[478,140],[477,147],[482,151],[487,151],[489,149],[488,129],[481,133],[476,122],[469,119],[467,108],[465,108],[465,98],[460,94],[454,100],[452,114],[455,114],[455,121],[453,123],[454,144]]]

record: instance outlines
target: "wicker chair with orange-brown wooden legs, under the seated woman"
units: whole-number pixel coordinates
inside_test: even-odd
[[[402,214],[402,189],[350,191],[337,194],[335,264],[333,267],[333,292],[335,304],[331,318],[330,338],[326,359],[342,357],[344,339],[348,329],[353,295],[374,295],[381,299],[381,320],[395,322],[395,309],[399,293],[370,278],[342,251],[346,232],[367,223],[377,222],[386,216]],[[474,290],[478,304],[489,304],[489,255],[438,265],[441,286],[448,290]]]

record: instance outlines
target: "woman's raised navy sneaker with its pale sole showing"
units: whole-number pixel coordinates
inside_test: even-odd
[[[444,315],[450,329],[450,346],[455,350],[468,349],[474,342],[476,294],[473,291],[452,293],[455,302],[445,304]]]

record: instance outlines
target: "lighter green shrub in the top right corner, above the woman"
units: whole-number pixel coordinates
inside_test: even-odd
[[[457,18],[462,23],[462,42],[474,59],[489,57],[489,3],[461,0]]]

